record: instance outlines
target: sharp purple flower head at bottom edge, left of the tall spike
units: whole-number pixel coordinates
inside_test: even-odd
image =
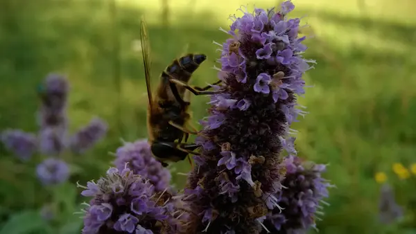
[[[92,197],[85,210],[83,234],[174,234],[180,228],[174,215],[181,212],[174,210],[173,195],[166,190],[156,192],[148,179],[129,168],[110,168],[96,183],[78,187],[85,189],[82,195]]]

